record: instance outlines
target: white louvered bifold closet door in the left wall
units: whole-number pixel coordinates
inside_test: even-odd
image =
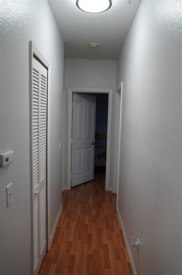
[[[33,58],[32,72],[32,186],[34,275],[46,253],[46,137],[47,69]]]

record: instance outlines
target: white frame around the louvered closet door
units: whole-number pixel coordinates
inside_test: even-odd
[[[33,71],[33,56],[35,56],[47,68],[47,251],[50,250],[50,79],[51,79],[51,64],[36,48],[32,41],[30,41],[30,152],[32,152],[32,71]],[[31,194],[31,243],[32,243],[32,269],[34,269],[34,239],[33,239],[33,170],[32,170],[32,154],[30,153],[30,194]],[[33,270],[34,273],[34,270]],[[33,274],[32,273],[32,274]]]

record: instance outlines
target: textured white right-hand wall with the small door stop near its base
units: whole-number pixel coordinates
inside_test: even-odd
[[[132,4],[131,4],[132,5]],[[137,274],[181,275],[180,1],[142,1],[117,61],[123,81],[118,208]]]

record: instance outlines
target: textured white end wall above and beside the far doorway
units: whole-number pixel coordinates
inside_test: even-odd
[[[113,104],[115,101],[117,60],[65,58],[65,87],[68,88],[99,88],[113,89]],[[114,112],[114,108],[113,108]],[[67,125],[68,96],[65,102],[65,186],[67,186]],[[113,140],[114,116],[112,119]],[[110,179],[113,178],[113,143],[111,142]],[[112,183],[112,180],[110,181]],[[111,186],[110,186],[111,187]]]

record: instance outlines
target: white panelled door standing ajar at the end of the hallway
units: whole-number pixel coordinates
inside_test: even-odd
[[[94,179],[96,96],[73,93],[71,186]]]

